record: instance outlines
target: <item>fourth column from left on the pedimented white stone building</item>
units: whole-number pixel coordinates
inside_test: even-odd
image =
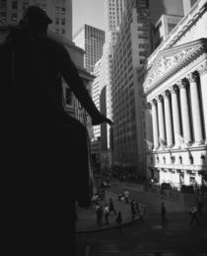
[[[173,136],[174,136],[174,146],[178,147],[180,145],[180,135],[181,135],[181,124],[179,117],[179,106],[178,106],[178,95],[177,86],[171,88],[172,93],[172,110],[173,110]]]

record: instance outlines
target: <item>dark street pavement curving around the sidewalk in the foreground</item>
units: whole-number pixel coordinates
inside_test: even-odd
[[[86,251],[86,248],[90,256],[164,255],[161,252],[166,253],[166,256],[175,255],[173,252],[185,252],[185,256],[196,256],[198,252],[203,253],[200,255],[206,255],[204,254],[204,252],[207,252],[206,197],[202,197],[205,208],[204,214],[199,217],[200,225],[194,224],[190,226],[189,210],[197,195],[174,198],[169,195],[145,192],[140,186],[116,181],[111,182],[110,195],[115,197],[125,189],[129,190],[131,199],[135,199],[146,206],[144,221],[136,220],[133,223],[126,224],[123,226],[122,231],[115,228],[116,225],[114,224],[114,228],[104,228],[99,232],[77,233],[78,256],[85,255],[83,251]],[[168,221],[166,223],[161,221],[161,202],[164,202],[167,208]],[[119,204],[117,198],[116,201],[114,198],[114,203]],[[127,208],[127,205],[122,204],[121,207],[124,209]],[[111,215],[111,225],[113,222],[112,217]],[[95,227],[96,220],[94,221],[91,218],[92,222]],[[142,254],[138,254],[138,252]],[[147,252],[152,252],[152,254],[147,254]]]

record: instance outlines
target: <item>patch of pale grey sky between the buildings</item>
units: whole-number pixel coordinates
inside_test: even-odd
[[[72,0],[73,35],[84,25],[104,30],[104,0]]]

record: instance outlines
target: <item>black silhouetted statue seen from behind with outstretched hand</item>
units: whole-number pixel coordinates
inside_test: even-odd
[[[87,129],[63,108],[62,78],[93,126],[112,125],[64,45],[47,37],[51,22],[30,6],[0,44],[5,219],[21,255],[75,255],[75,202],[90,205]]]

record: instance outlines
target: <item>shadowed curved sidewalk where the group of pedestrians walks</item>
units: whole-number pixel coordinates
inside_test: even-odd
[[[105,196],[105,201],[102,202],[102,206],[104,209],[104,204],[108,205],[109,198],[112,199],[114,208],[116,212],[121,212],[122,215],[122,225],[133,222],[131,216],[131,206],[130,203],[126,204],[125,202],[119,202],[118,196],[116,194],[107,192]],[[144,214],[144,209],[141,212]],[[94,206],[90,207],[90,209],[77,208],[78,221],[76,222],[76,232],[92,232],[92,231],[100,231],[108,228],[116,228],[118,227],[115,222],[116,215],[114,213],[110,213],[108,217],[108,224],[104,223],[104,215],[103,215],[103,224],[99,225],[97,223],[97,214]],[[139,217],[135,218],[138,219]]]

